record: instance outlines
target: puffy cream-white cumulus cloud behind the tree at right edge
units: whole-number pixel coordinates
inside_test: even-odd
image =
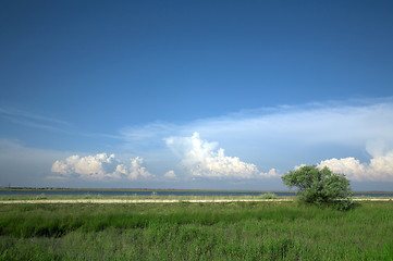
[[[349,157],[324,160],[318,166],[328,166],[333,172],[343,173],[353,181],[393,182],[393,150],[373,156],[369,163],[360,163],[359,160]]]

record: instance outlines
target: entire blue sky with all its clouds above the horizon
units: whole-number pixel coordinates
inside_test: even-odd
[[[393,190],[392,1],[0,2],[0,186]]]

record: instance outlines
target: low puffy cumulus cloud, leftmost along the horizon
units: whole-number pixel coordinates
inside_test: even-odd
[[[96,156],[71,156],[65,160],[57,160],[51,172],[59,173],[62,178],[81,177],[85,179],[137,179],[152,175],[143,166],[144,160],[139,157],[122,163],[114,154],[99,153]],[[53,178],[49,176],[48,178]]]

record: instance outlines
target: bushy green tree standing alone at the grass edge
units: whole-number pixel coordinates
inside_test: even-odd
[[[282,177],[283,183],[291,189],[297,187],[300,200],[318,206],[333,206],[340,210],[349,209],[353,204],[349,181],[344,174],[333,173],[329,167],[322,170],[315,165],[302,166],[290,171]]]

